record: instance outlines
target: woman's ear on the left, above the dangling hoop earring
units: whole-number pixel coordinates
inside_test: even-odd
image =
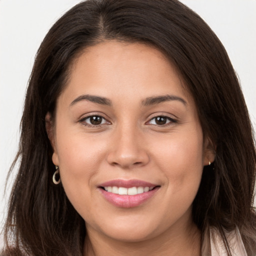
[[[57,149],[56,149],[55,127],[54,127],[54,122],[52,120],[52,116],[49,112],[47,112],[45,115],[45,128],[46,128],[46,132],[53,150],[53,154],[51,157],[52,162],[58,166],[59,161],[58,161],[58,155],[57,155]]]

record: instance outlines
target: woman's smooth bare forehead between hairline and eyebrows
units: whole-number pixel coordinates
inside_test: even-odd
[[[190,97],[175,66],[161,51],[144,43],[115,40],[85,48],[73,61],[63,92],[72,98],[79,94],[142,98],[169,93]]]

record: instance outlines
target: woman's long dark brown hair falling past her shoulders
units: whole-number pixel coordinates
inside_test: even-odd
[[[256,153],[248,111],[221,42],[177,0],[87,0],[51,27],[38,49],[26,91],[19,150],[12,165],[19,159],[19,169],[4,229],[6,255],[82,254],[84,220],[63,187],[51,181],[54,166],[45,115],[49,111],[54,116],[69,67],[82,49],[111,39],[154,45],[176,66],[195,100],[204,135],[216,148],[214,163],[203,170],[193,220],[202,232],[217,227],[224,240],[224,230],[237,226],[248,255],[255,255]]]

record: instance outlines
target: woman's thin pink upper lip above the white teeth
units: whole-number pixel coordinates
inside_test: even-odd
[[[117,187],[133,187],[133,186],[143,186],[143,187],[152,187],[152,186],[157,186],[157,184],[152,184],[150,182],[147,181],[143,181],[143,180],[139,180],[139,179],[113,179],[113,180],[109,180],[106,182],[103,182],[101,184],[98,185],[99,187],[102,186],[117,186]]]

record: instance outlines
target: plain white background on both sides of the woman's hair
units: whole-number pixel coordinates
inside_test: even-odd
[[[25,88],[36,50],[54,21],[78,2],[0,0],[0,230],[6,211],[4,181],[17,150]],[[195,10],[226,47],[255,129],[256,0],[181,2]]]

